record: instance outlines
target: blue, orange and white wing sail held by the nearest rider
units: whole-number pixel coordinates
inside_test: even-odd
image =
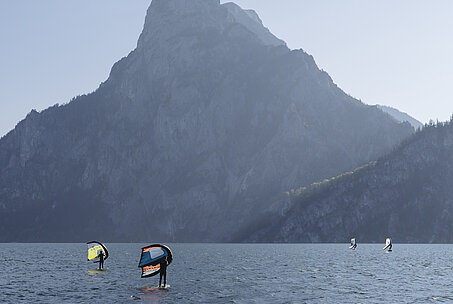
[[[142,278],[155,276],[160,272],[160,262],[167,257],[168,265],[173,260],[170,248],[161,244],[149,245],[142,248],[138,267],[142,268]]]

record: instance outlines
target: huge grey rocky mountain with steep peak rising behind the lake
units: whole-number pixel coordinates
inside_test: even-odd
[[[275,195],[412,132],[256,13],[154,0],[98,90],[32,111],[0,140],[0,241],[239,240]]]

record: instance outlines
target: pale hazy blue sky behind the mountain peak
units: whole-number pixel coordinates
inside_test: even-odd
[[[135,47],[150,2],[0,1],[0,136],[33,108],[95,90]],[[235,2],[363,102],[422,122],[453,113],[453,1]]]

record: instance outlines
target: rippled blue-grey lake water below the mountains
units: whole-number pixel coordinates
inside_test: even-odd
[[[166,290],[140,278],[140,248],[0,244],[0,303],[453,303],[453,245],[169,244]]]

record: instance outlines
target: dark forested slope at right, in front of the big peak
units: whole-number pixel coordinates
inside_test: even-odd
[[[266,213],[248,241],[451,243],[453,120],[354,172],[287,193]]]

